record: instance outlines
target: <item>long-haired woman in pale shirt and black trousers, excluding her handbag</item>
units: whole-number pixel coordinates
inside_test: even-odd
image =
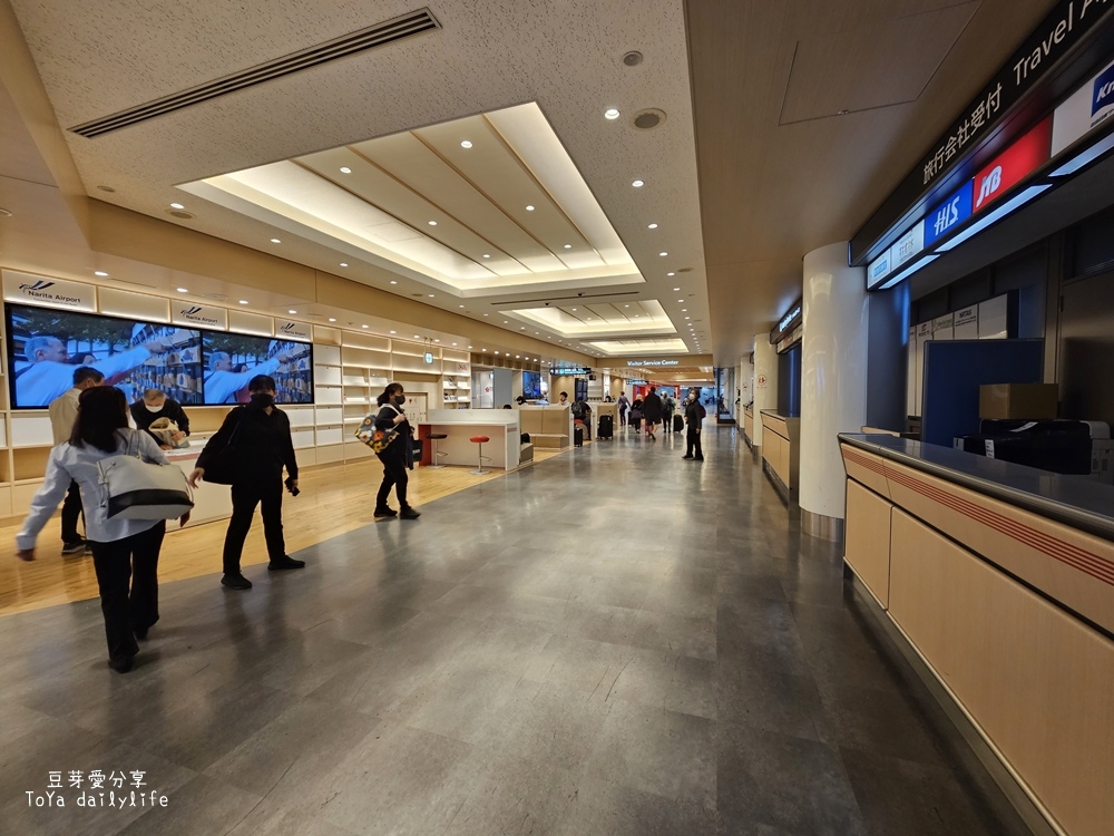
[[[174,467],[150,436],[128,427],[124,392],[107,386],[82,391],[72,434],[68,441],[50,450],[46,479],[31,499],[31,513],[16,537],[17,555],[33,561],[42,526],[69,485],[80,485],[86,534],[100,587],[108,664],[119,673],[131,670],[139,652],[136,639],[146,639],[158,621],[158,552],[166,534],[165,519],[108,516],[108,488],[98,464],[133,450],[145,461]],[[188,521],[187,512],[180,524]]]

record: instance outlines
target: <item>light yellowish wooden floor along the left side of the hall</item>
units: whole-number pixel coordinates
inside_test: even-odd
[[[567,450],[535,449],[535,461],[559,456]],[[421,507],[442,496],[465,490],[473,485],[497,479],[504,470],[485,476],[469,473],[470,467],[421,467],[410,474],[410,504]],[[332,467],[312,468],[302,473],[301,494],[283,499],[283,529],[286,551],[297,552],[330,537],[361,528],[375,521],[375,493],[382,479],[382,466],[373,458]],[[391,504],[398,507],[394,497]],[[16,557],[16,534],[22,521],[0,525],[0,616],[43,606],[97,597],[97,575],[92,558],[78,554],[61,555],[57,516],[39,535],[37,558],[26,563]],[[221,572],[221,550],[227,519],[175,531],[169,524],[167,538],[158,562],[163,583]],[[266,563],[263,523],[258,513],[244,546],[243,565]],[[248,573],[251,574],[251,573]]]

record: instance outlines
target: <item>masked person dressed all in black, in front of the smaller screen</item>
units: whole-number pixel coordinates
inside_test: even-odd
[[[232,519],[224,537],[224,577],[221,583],[233,590],[252,589],[252,582],[240,571],[240,557],[256,505],[263,506],[263,536],[271,557],[267,568],[274,572],[305,566],[305,561],[295,561],[286,554],[286,542],[282,535],[283,467],[290,476],[286,487],[291,494],[297,495],[297,460],[290,435],[290,418],[274,405],[274,378],[256,375],[247,383],[247,391],[251,402],[228,412],[221,429],[197,457],[197,467],[189,474],[190,487],[197,487],[197,480],[205,477],[205,465],[232,441],[236,477],[232,483]]]

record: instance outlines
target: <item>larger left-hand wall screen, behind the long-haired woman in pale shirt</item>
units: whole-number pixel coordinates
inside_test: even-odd
[[[162,389],[179,404],[203,404],[202,332],[51,308],[6,305],[8,372],[14,409],[45,409],[91,366],[128,402]]]

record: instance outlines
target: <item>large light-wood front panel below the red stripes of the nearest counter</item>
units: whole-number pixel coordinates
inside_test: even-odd
[[[895,509],[890,614],[1072,836],[1114,822],[1114,642]]]

